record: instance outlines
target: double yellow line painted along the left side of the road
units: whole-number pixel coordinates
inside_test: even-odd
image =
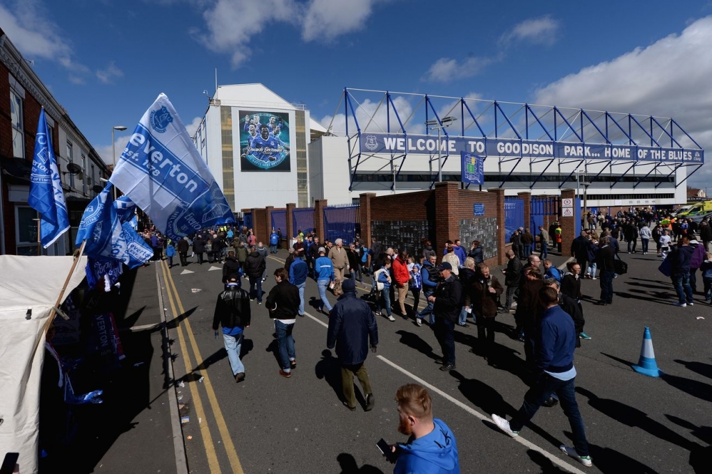
[[[180,297],[178,295],[178,290],[176,289],[176,285],[173,281],[173,277],[170,274],[170,272],[167,270],[167,263],[165,260],[163,260],[161,263],[161,270],[163,272],[163,280],[166,283],[166,293],[168,294],[168,300],[169,300],[169,304],[171,306],[173,319],[176,319],[178,317],[178,315],[185,314],[185,309],[184,309],[183,303],[180,300]],[[176,310],[176,307],[177,307],[177,310]],[[186,374],[190,374],[191,372],[193,372],[193,370],[191,368],[190,354],[187,349],[187,345],[185,342],[185,337],[183,335],[182,329],[184,329],[185,332],[187,333],[190,345],[193,349],[193,355],[194,355],[193,358],[195,359],[194,367],[198,367],[198,365],[201,364],[200,361],[202,361],[204,359],[201,356],[200,350],[198,349],[198,344],[195,341],[195,337],[193,335],[193,330],[190,327],[190,321],[186,317],[181,322],[178,322],[178,324],[176,325],[176,330],[178,332],[178,340],[180,343],[181,352],[184,354],[183,362],[185,364],[185,371],[186,371]],[[242,470],[242,465],[240,463],[240,459],[237,457],[237,453],[235,451],[235,446],[232,442],[232,438],[230,437],[230,433],[227,429],[225,419],[223,418],[222,411],[220,409],[220,405],[218,404],[217,397],[215,396],[215,391],[213,390],[213,386],[210,382],[208,373],[207,373],[207,371],[204,371],[204,373],[201,373],[201,375],[204,377],[203,386],[205,387],[205,390],[208,394],[208,401],[210,404],[210,408],[213,412],[213,416],[215,418],[215,422],[218,427],[220,437],[222,438],[222,445],[225,446],[225,451],[227,452],[227,458],[230,462],[231,472],[236,473],[236,474],[244,474],[244,470]],[[215,453],[215,445],[213,443],[212,436],[210,434],[207,417],[205,416],[205,411],[203,409],[203,402],[200,398],[200,394],[198,393],[198,388],[197,388],[196,384],[194,383],[194,381],[189,381],[188,386],[190,389],[191,397],[193,399],[195,413],[197,414],[197,416],[199,418],[203,419],[203,423],[199,423],[199,426],[200,426],[200,433],[203,438],[203,444],[205,446],[205,453],[208,458],[208,467],[210,468],[211,473],[221,473],[220,464],[218,462],[218,458]]]

